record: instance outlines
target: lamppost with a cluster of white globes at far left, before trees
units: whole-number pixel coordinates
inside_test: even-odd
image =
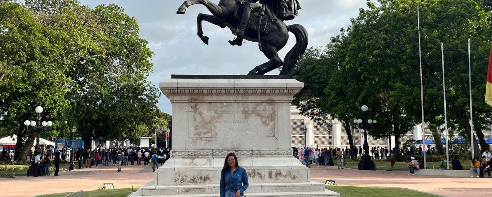
[[[41,113],[44,110],[43,107],[37,106],[34,110],[37,113],[37,123],[36,123],[36,121],[26,120],[26,121],[24,121],[24,125],[26,126],[26,130],[28,130],[28,131],[31,130],[31,131],[36,132],[36,148],[34,149],[34,155],[38,155],[39,153],[41,153],[41,148],[39,146],[39,133],[42,131],[45,131],[46,126],[48,126],[48,127],[53,126],[53,122],[51,122],[51,121],[41,122]],[[29,126],[31,126],[31,128],[29,128]],[[35,166],[34,166],[34,162],[33,162],[33,163],[31,163],[31,166],[29,166],[27,176],[34,176],[34,170],[35,170]]]

